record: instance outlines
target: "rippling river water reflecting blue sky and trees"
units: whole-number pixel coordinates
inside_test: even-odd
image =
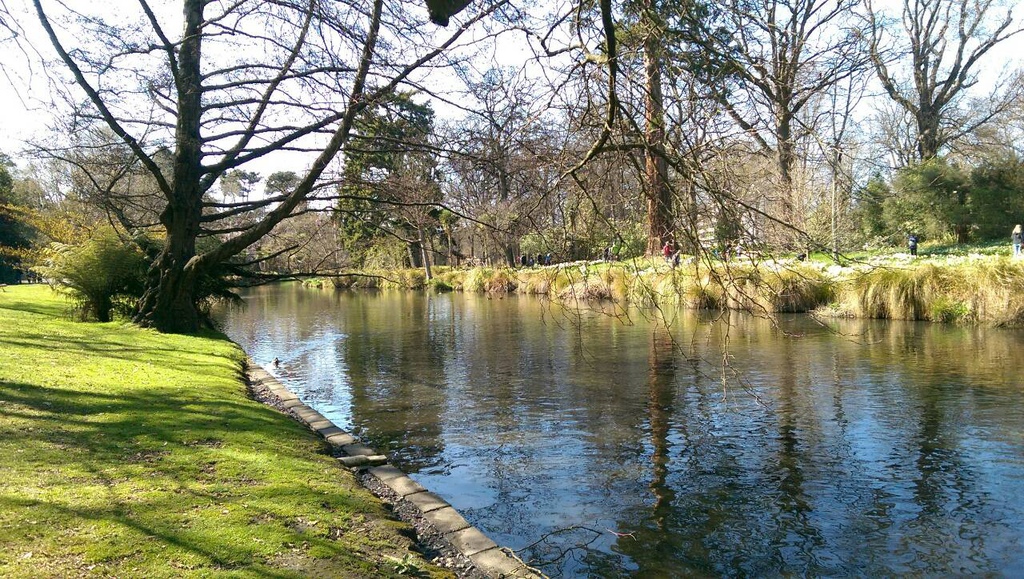
[[[574,529],[524,553],[553,576],[1024,571],[1020,332],[667,328],[288,287],[247,301],[221,317],[257,362],[281,358],[309,404],[496,540]]]

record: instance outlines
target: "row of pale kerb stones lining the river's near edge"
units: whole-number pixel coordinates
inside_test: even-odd
[[[350,457],[381,458],[374,449],[358,443],[355,437],[339,428],[327,417],[303,404],[299,397],[285,387],[269,372],[256,366],[252,360],[247,361],[246,374],[250,383],[266,388],[276,399],[280,408],[284,408],[297,420],[323,437],[335,451]],[[469,559],[480,574],[495,578],[538,579],[545,577],[542,573],[527,567],[515,555],[500,548],[479,529],[472,527],[447,501],[426,490],[398,468],[388,464],[360,468],[367,468],[369,473],[380,481],[390,492],[397,495],[399,501],[406,501],[415,506],[423,519],[440,533],[455,549]]]

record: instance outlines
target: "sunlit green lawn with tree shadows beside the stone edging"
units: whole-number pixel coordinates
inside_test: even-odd
[[[447,576],[218,335],[0,291],[0,576]],[[413,565],[410,563],[413,562]]]

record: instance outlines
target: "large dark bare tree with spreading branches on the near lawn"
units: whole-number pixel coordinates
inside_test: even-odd
[[[442,30],[422,6],[394,0],[33,0],[55,54],[48,70],[77,89],[70,130],[109,127],[162,197],[163,247],[135,321],[196,331],[204,274],[333,191],[325,183],[358,113],[426,74],[503,4],[474,3]],[[290,190],[214,195],[229,171],[282,152],[308,163]],[[204,237],[219,243],[198,246]]]

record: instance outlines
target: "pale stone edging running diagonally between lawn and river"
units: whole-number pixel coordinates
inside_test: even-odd
[[[531,569],[510,550],[499,547],[477,528],[471,526],[444,499],[423,488],[404,472],[386,464],[387,457],[359,444],[348,432],[336,426],[319,412],[303,404],[269,372],[248,360],[246,375],[251,387],[265,389],[276,403],[274,406],[288,412],[299,422],[324,438],[335,451],[342,466],[355,469],[359,481],[378,498],[396,506],[402,519],[414,519],[418,533],[425,524],[428,534],[439,538],[443,548],[467,560],[460,576],[540,579],[545,577]],[[414,523],[413,521],[409,521]],[[463,567],[463,566],[459,566]]]

